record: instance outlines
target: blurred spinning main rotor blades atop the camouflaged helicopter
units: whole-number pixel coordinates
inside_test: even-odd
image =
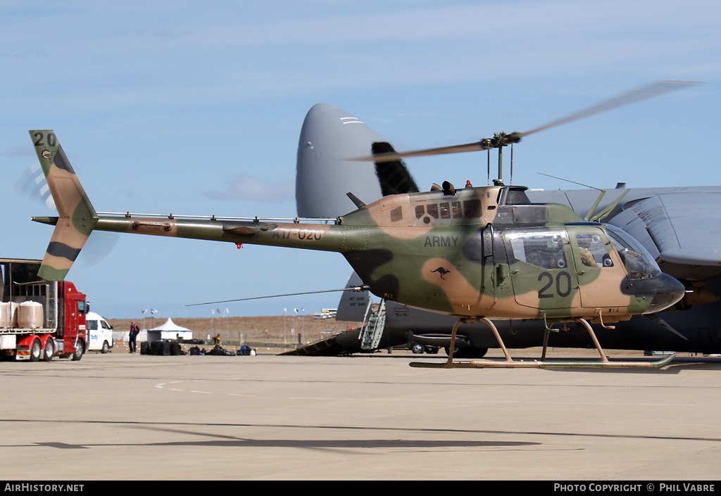
[[[617,107],[624,105],[630,105],[634,102],[640,102],[640,100],[656,97],[660,94],[671,92],[674,89],[680,89],[689,87],[691,84],[699,84],[698,81],[655,81],[651,84],[647,84],[645,87],[634,89],[630,92],[619,95],[601,102],[597,105],[593,105],[579,112],[567,115],[565,118],[554,120],[545,125],[541,125],[539,128],[534,128],[526,131],[525,133],[496,133],[493,138],[482,138],[481,141],[474,143],[466,143],[464,145],[456,146],[442,146],[440,148],[432,148],[425,150],[406,151],[406,152],[389,152],[384,154],[376,154],[373,156],[363,156],[357,159],[349,159],[354,161],[375,161],[375,162],[386,162],[403,159],[410,156],[426,156],[426,155],[442,155],[442,154],[457,154],[465,151],[480,151],[491,148],[498,148],[499,146],[510,145],[511,143],[518,143],[521,138],[528,136],[529,134],[537,133],[540,130],[554,128],[557,125],[570,123],[574,120],[587,118],[590,115],[595,115],[607,110],[612,110]]]

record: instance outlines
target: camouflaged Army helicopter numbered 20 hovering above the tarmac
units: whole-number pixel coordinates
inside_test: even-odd
[[[472,146],[500,152],[536,130],[497,133]],[[428,192],[389,195],[368,205],[348,192],[357,208],[335,219],[112,213],[95,211],[53,130],[29,133],[58,210],[58,216],[32,217],[55,226],[38,271],[45,280],[65,277],[94,230],[231,242],[239,247],[314,249],[342,254],[361,277],[363,288],[376,296],[454,316],[451,350],[461,324],[484,322],[505,354],[502,361],[456,362],[451,353],[446,363],[411,366],[659,367],[674,357],[611,362],[590,323],[609,326],[637,314],[662,311],[684,296],[684,285],[662,273],[632,236],[599,222],[612,205],[597,214],[592,208],[581,218],[565,205],[531,203],[526,187],[503,184],[500,161],[499,179],[485,187],[468,183],[456,189],[446,181]],[[467,146],[463,148],[459,151]],[[371,159],[394,159],[392,155],[376,154]],[[545,345],[541,360],[513,360],[492,322],[508,319],[541,320],[547,337],[558,330],[552,328],[556,324],[578,322],[596,344],[600,360],[547,360]]]

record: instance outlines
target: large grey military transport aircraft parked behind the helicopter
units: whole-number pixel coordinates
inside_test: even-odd
[[[298,215],[336,216],[348,209],[348,198],[337,192],[364,191],[368,200],[395,192],[415,192],[417,186],[402,161],[361,164],[349,167],[337,157],[353,157],[368,149],[391,150],[391,146],[361,120],[333,105],[317,104],[309,110],[298,141],[296,201]],[[352,180],[346,180],[348,171]],[[620,198],[623,194],[623,198]],[[529,190],[528,198],[539,203],[561,203],[580,215],[591,210],[598,198],[593,190]],[[598,340],[606,348],[624,350],[674,350],[721,353],[721,236],[709,229],[718,222],[721,187],[630,188],[609,190],[598,205],[612,208],[606,223],[618,226],[637,239],[659,262],[661,269],[683,281],[686,296],[660,314],[634,316],[615,329],[594,325]],[[704,208],[699,208],[703,205]],[[348,296],[344,296],[348,301]],[[339,315],[344,311],[343,300]],[[348,319],[355,320],[357,314]],[[448,347],[448,329],[454,318],[430,314],[403,304],[386,301],[385,328],[378,347],[416,345],[419,350]],[[544,342],[543,324],[531,320],[497,322],[507,347],[533,347]],[[362,351],[356,331],[335,337],[342,353]],[[591,347],[585,329],[571,326],[549,336],[554,347]],[[459,329],[456,357],[480,357],[497,340],[485,326],[468,324]]]

